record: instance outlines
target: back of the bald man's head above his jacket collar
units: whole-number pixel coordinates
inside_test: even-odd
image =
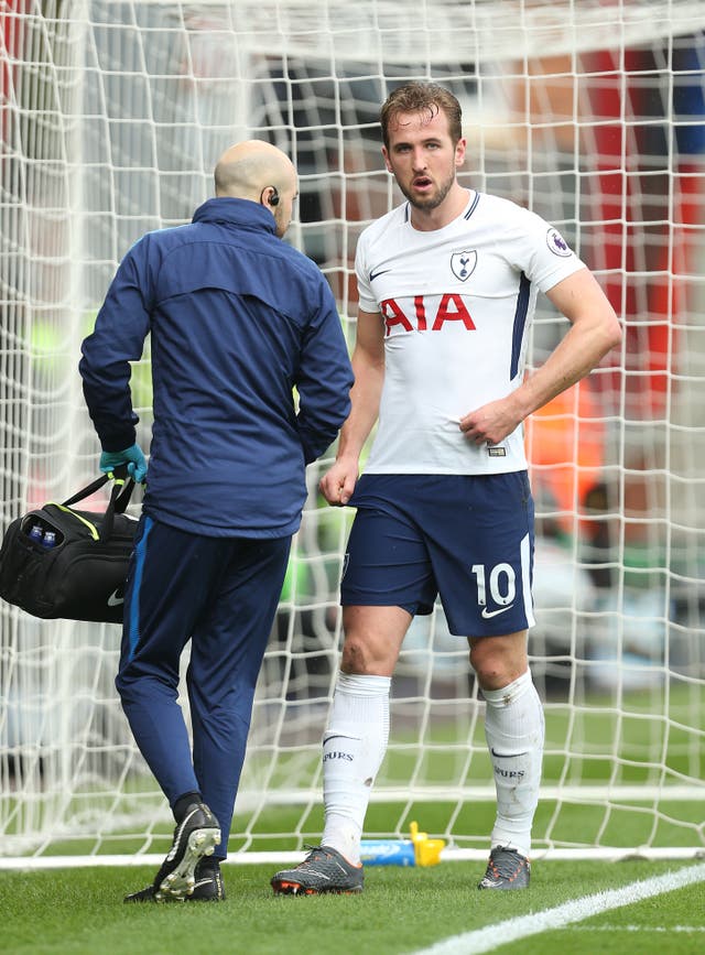
[[[251,139],[226,150],[215,169],[216,196],[259,203],[262,191],[296,189],[296,171],[289,156],[275,145]]]

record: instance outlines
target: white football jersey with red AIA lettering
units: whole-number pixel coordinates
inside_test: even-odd
[[[538,290],[583,268],[549,223],[485,193],[470,191],[463,215],[434,231],[412,227],[408,203],[368,226],[356,254],[359,307],[386,327],[366,473],[525,468],[522,426],[478,447],[458,423],[521,384]]]

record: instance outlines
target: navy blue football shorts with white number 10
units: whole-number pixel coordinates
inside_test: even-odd
[[[364,475],[340,580],[344,606],[431,614],[451,633],[491,637],[534,623],[533,498],[525,470]]]

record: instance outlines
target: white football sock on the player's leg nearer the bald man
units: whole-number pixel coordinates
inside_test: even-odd
[[[389,676],[339,673],[323,736],[322,845],[358,865],[365,814],[389,741]]]

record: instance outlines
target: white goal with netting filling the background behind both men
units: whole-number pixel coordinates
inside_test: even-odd
[[[215,160],[297,165],[288,236],[352,343],[355,245],[400,200],[379,107],[406,79],[464,107],[468,186],[540,213],[595,271],[623,345],[527,425],[538,855],[705,848],[705,4],[646,0],[6,0],[0,3],[0,531],[96,476],[79,345],[128,247],[188,221]],[[540,303],[530,367],[564,334]],[[149,350],[132,393],[149,446]],[[350,514],[310,496],[258,684],[231,858],[322,828],[321,735]],[[133,506],[139,510],[139,502]],[[0,604],[0,867],[145,860],[171,817],[113,687],[119,628]],[[464,640],[417,618],[393,681],[367,837],[411,821],[487,851],[491,769]],[[187,707],[185,699],[184,707]]]

